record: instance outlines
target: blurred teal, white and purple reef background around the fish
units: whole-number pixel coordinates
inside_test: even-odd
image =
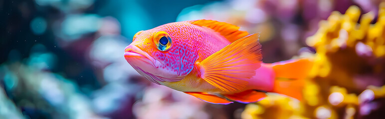
[[[264,62],[289,60],[316,52],[306,39],[316,34],[319,22],[327,20],[332,11],[344,14],[356,5],[361,11],[356,13],[358,16],[370,12],[372,19],[377,19],[381,1],[0,0],[0,119],[258,118],[256,115],[272,113],[266,106],[263,108],[264,102],[213,105],[152,84],[126,62],[124,48],[140,30],[176,21],[212,19],[238,25],[249,33],[261,32]],[[355,23],[358,19],[361,17]],[[379,70],[374,84],[382,86],[384,69]],[[365,89],[350,92],[348,88],[345,92],[358,95]],[[316,113],[302,115],[303,108],[293,107],[301,105],[298,100],[271,98],[290,100],[278,104],[290,105],[290,109],[284,109],[299,110],[301,114],[271,119],[341,119],[351,114],[345,110],[333,112],[328,106],[320,109],[321,104],[317,104],[311,106],[318,108],[310,108]],[[380,104],[384,105],[384,100]],[[354,112],[361,109],[353,107]],[[372,108],[364,109],[366,115],[353,114],[353,118],[371,116]],[[334,116],[340,113],[346,115]],[[374,117],[379,116],[376,113]]]

